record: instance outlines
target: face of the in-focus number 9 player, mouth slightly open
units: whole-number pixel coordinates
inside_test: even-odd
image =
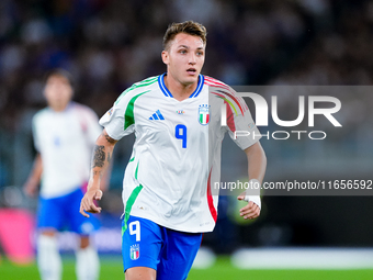
[[[178,82],[189,86],[197,82],[205,61],[205,45],[199,36],[179,33],[168,51],[162,52],[168,75]]]

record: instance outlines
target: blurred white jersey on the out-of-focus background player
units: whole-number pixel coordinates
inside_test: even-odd
[[[33,117],[33,135],[43,160],[41,195],[56,198],[88,181],[90,159],[102,127],[95,113],[71,102],[63,112],[49,108]]]

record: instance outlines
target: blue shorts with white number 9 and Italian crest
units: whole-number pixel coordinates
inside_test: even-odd
[[[129,216],[122,222],[124,271],[132,267],[157,270],[157,280],[187,279],[201,246],[202,233],[182,233],[147,219]]]

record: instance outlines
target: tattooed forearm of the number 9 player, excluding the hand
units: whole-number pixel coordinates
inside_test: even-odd
[[[89,189],[100,189],[101,179],[110,166],[115,144],[116,141],[111,138],[105,130],[97,139],[93,148]]]

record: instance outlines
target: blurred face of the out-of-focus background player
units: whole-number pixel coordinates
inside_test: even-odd
[[[72,88],[67,78],[52,76],[45,85],[44,96],[53,110],[63,111],[71,100]]]

